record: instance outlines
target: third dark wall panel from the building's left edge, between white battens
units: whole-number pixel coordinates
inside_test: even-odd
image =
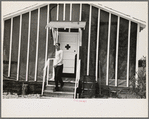
[[[27,44],[28,44],[28,21],[29,13],[22,15],[22,35],[20,50],[20,73],[19,80],[26,79]]]

